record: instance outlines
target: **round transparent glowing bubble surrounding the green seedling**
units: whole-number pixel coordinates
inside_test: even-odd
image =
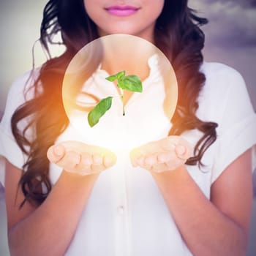
[[[109,75],[138,75],[143,91],[124,90]],[[72,59],[64,75],[63,104],[81,140],[98,146],[132,148],[166,136],[176,109],[178,86],[166,56],[140,37],[113,34],[90,42]],[[99,123],[89,126],[88,114],[100,99],[113,97]]]

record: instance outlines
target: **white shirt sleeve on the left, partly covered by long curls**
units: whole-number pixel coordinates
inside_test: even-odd
[[[29,86],[31,81],[31,72],[20,76],[12,86],[7,95],[7,104],[4,110],[4,116],[0,123],[0,182],[4,185],[4,158],[12,163],[15,167],[22,169],[26,162],[26,155],[20,150],[18,144],[12,135],[11,118],[15,110],[26,101],[24,90]],[[26,121],[20,121],[19,127],[26,124]]]

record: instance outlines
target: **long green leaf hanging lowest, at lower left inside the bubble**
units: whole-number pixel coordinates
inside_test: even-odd
[[[112,99],[113,97],[101,99],[94,109],[89,112],[88,122],[90,127],[94,127],[94,125],[99,122],[99,118],[101,118],[111,108]]]

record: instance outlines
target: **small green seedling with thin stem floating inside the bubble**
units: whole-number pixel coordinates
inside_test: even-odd
[[[140,78],[137,75],[125,75],[125,71],[121,71],[116,75],[110,75],[106,79],[110,82],[117,80],[117,86],[120,88],[119,96],[123,102],[123,116],[125,116],[124,90],[142,92],[143,88]],[[89,112],[88,122],[90,127],[94,127],[94,125],[99,122],[99,118],[101,118],[111,108],[112,99],[113,97],[101,99],[94,109]]]

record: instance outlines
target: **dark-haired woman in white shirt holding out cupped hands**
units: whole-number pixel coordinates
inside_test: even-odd
[[[12,255],[245,254],[256,117],[241,76],[203,63],[203,23],[183,0],[48,2],[41,42],[48,50],[61,31],[66,51],[42,66],[30,89],[29,75],[16,81],[1,122]],[[113,172],[111,151],[69,136],[61,86],[83,45],[119,33],[165,53],[179,94],[170,131],[151,131],[162,139],[137,148],[137,168]]]

